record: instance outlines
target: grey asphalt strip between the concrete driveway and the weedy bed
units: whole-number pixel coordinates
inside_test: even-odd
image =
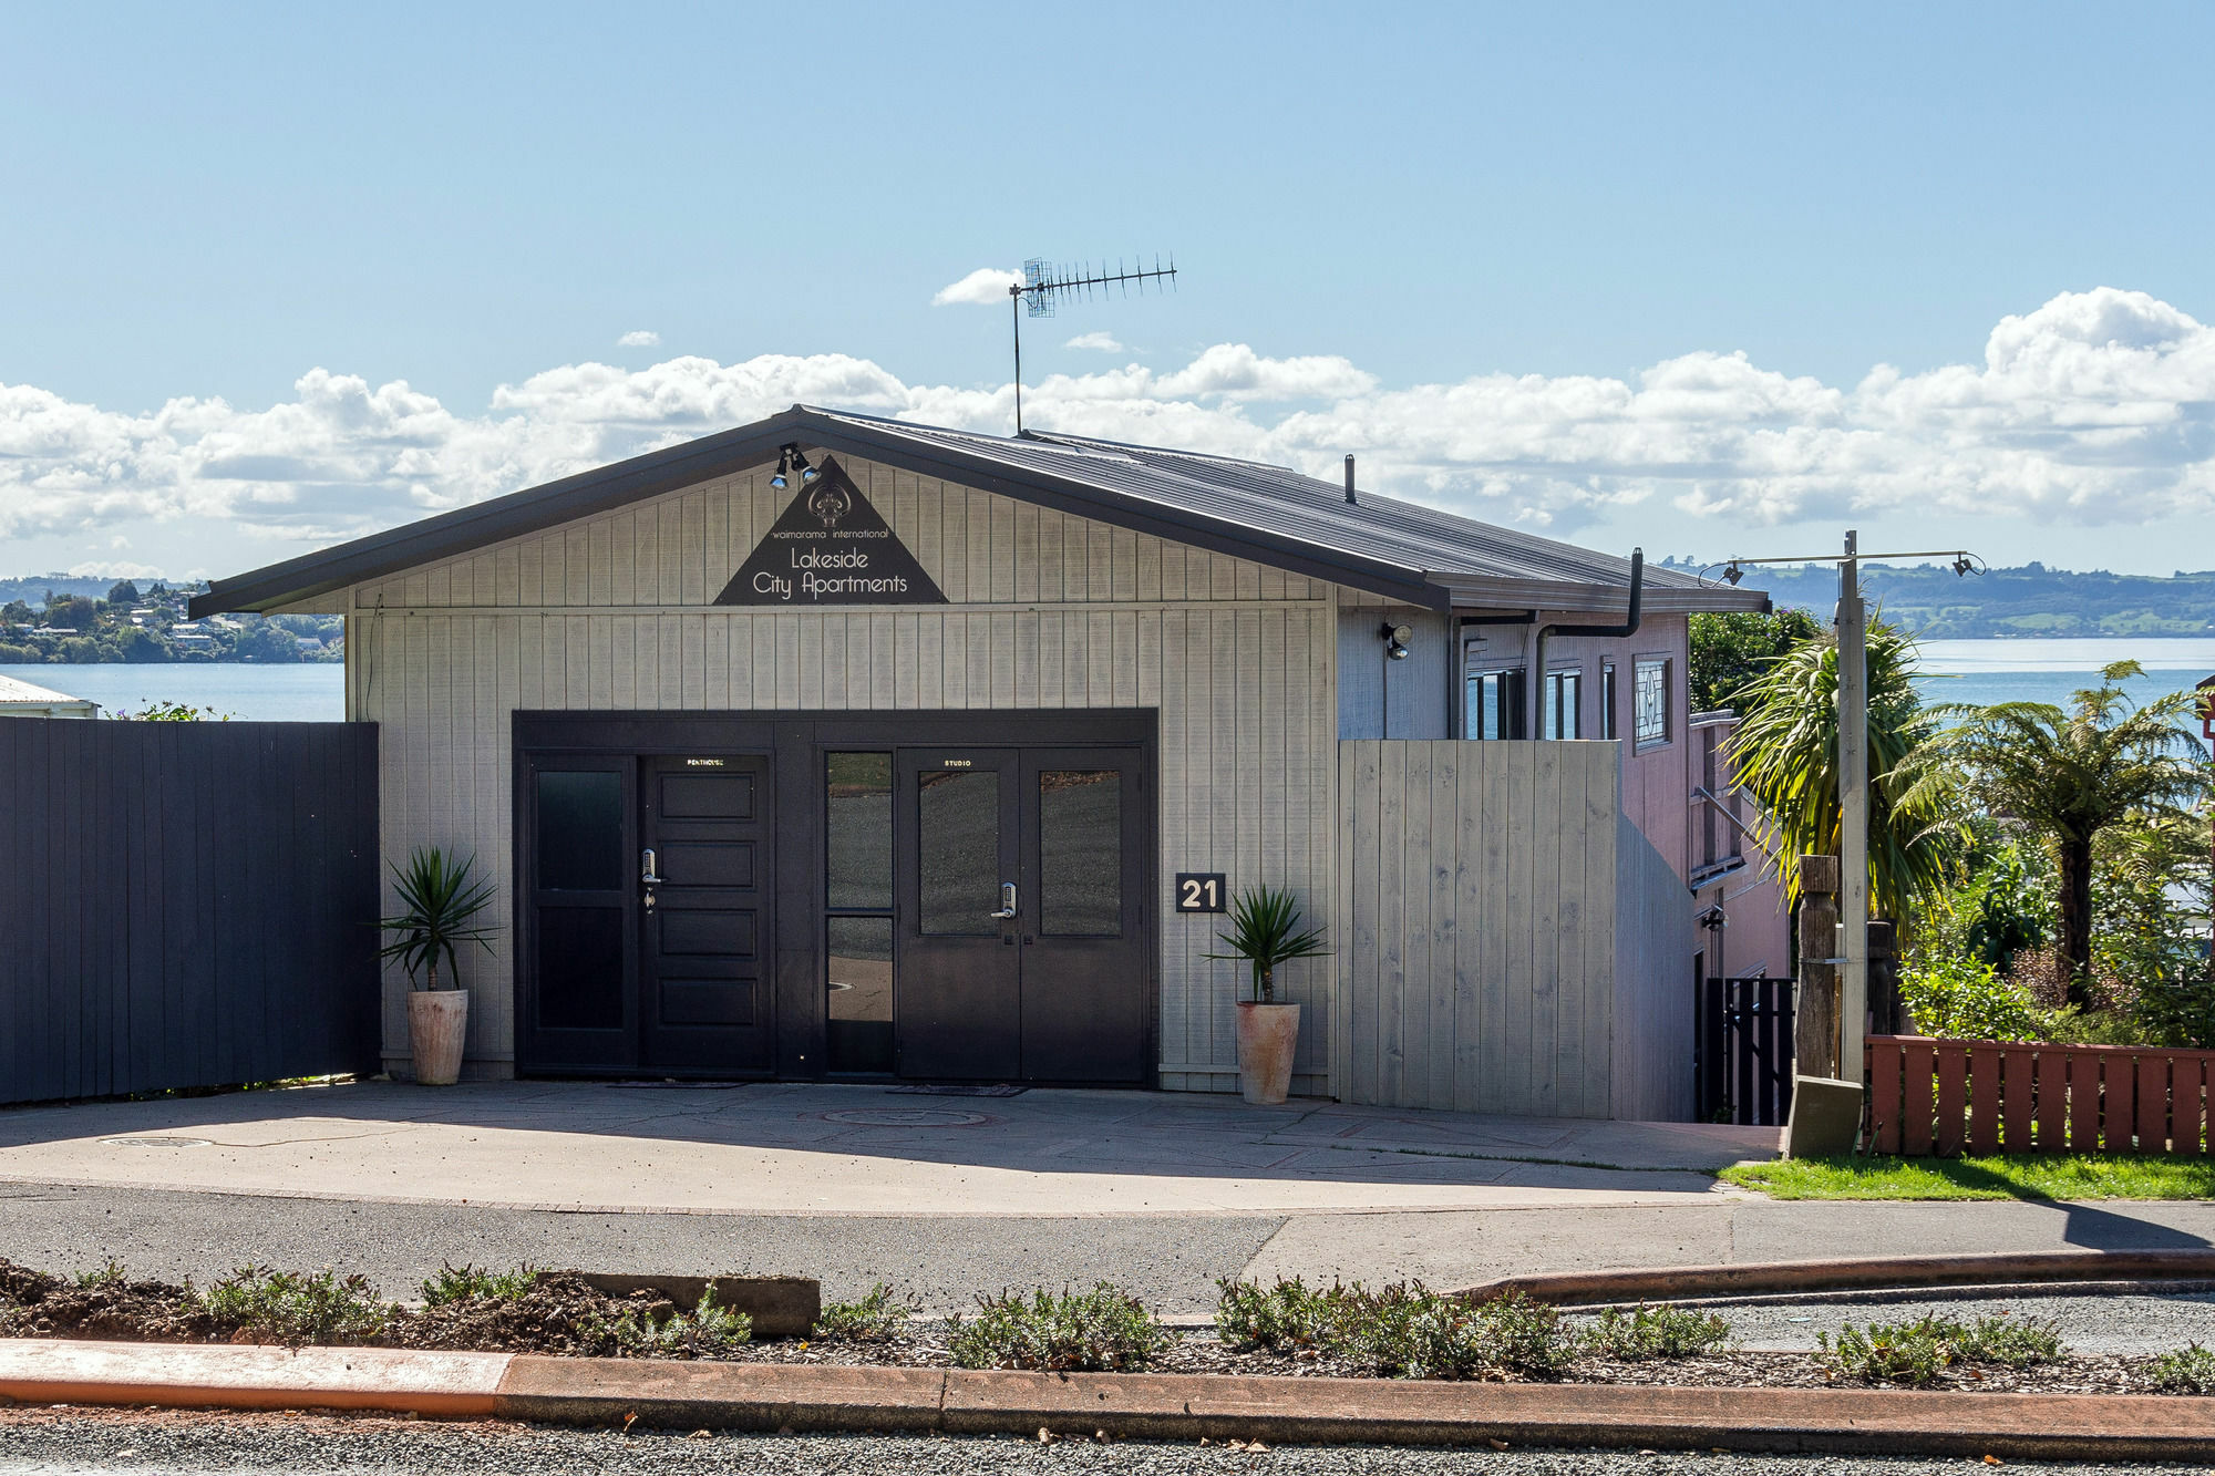
[[[1114,1281],[1165,1314],[1216,1305],[1285,1223],[1278,1214],[1163,1217],[782,1217],[567,1214],[439,1203],[348,1203],[0,1183],[0,1254],[47,1272],[120,1261],[131,1272],[206,1283],[246,1263],[339,1265],[388,1296],[452,1261],[638,1270],[656,1274],[800,1274],[824,1299],[875,1281],[933,1312],[979,1292]]]

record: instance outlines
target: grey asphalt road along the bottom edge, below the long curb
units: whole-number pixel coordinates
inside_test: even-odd
[[[1962,1460],[1843,1456],[1717,1456],[1637,1452],[1440,1452],[1384,1447],[1282,1447],[1263,1454],[1198,1445],[1014,1438],[707,1436],[682,1432],[436,1425],[292,1414],[93,1414],[0,1410],[0,1476],[64,1472],[288,1472],[321,1476],[412,1472],[423,1476],[983,1476],[1258,1472],[1265,1476],[1960,1476]],[[2036,1467],[2053,1472],[2193,1472],[2197,1467]]]

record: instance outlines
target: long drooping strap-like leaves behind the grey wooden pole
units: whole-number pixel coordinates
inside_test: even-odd
[[[1931,736],[1914,689],[1914,640],[1869,621],[1869,900],[1905,918],[1916,898],[1938,893],[1958,829],[1949,769],[1903,765]],[[1763,809],[1761,844],[1801,898],[1801,855],[1838,855],[1838,640],[1825,634],[1776,658],[1748,683],[1750,716],[1730,758]]]

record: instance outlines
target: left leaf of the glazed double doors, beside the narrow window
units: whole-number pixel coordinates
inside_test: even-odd
[[[1019,798],[1012,749],[899,751],[893,1037],[904,1077],[1021,1073]]]

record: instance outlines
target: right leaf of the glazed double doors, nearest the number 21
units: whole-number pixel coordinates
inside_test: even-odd
[[[1023,749],[1023,1079],[1145,1079],[1145,767]]]

